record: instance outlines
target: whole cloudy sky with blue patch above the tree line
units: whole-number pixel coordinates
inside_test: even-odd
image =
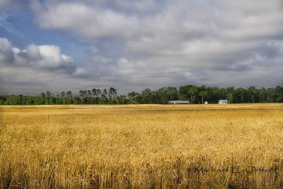
[[[283,86],[282,0],[0,0],[0,95]]]

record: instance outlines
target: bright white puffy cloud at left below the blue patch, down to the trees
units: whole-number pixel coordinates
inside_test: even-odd
[[[85,68],[74,66],[73,59],[57,46],[31,44],[21,50],[6,38],[0,38],[0,67],[3,94],[36,94],[48,87],[59,91],[62,86],[81,86],[80,76],[87,73]]]

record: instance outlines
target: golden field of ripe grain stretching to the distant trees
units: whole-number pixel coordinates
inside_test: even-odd
[[[283,104],[0,106],[1,188],[283,188]]]

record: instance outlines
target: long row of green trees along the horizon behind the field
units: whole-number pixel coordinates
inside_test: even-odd
[[[218,103],[218,100],[229,100],[230,103],[283,103],[283,87],[276,88],[218,88],[186,85],[162,87],[151,91],[145,88],[141,93],[130,92],[118,95],[117,89],[108,90],[92,88],[79,91],[73,96],[71,91],[62,91],[52,96],[50,91],[40,96],[0,96],[0,105],[71,105],[71,104],[167,104],[168,101],[190,101],[190,103]]]

